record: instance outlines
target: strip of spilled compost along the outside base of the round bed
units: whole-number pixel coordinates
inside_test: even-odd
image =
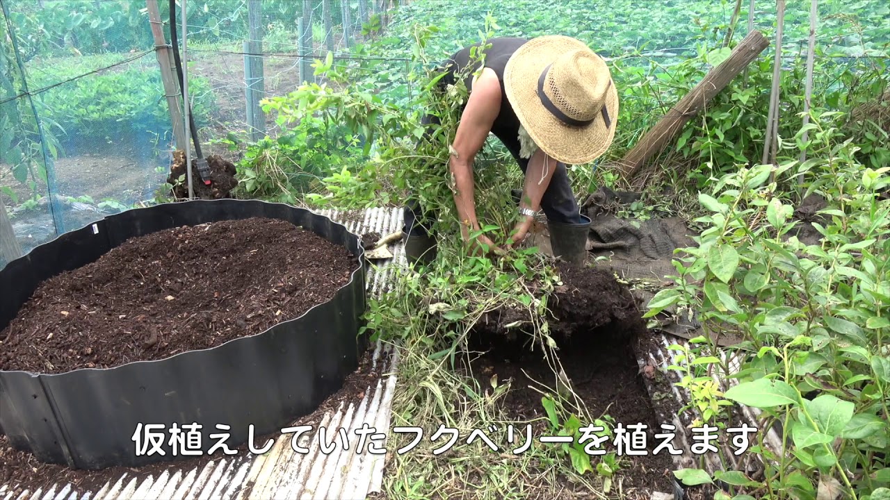
[[[329,411],[335,411],[341,402],[345,402],[348,405],[350,401],[359,401],[363,398],[364,392],[368,390],[368,387],[376,386],[377,380],[383,375],[384,368],[386,367],[380,360],[378,360],[376,368],[373,367],[372,354],[372,351],[365,352],[362,359],[360,359],[359,367],[352,374],[346,376],[342,389],[336,391],[328,399],[325,399],[312,414],[305,415],[287,426],[312,425],[314,429],[317,429],[324,415]],[[255,446],[263,447],[267,440],[277,440],[279,437],[279,433],[256,436]],[[250,453],[248,443],[238,447],[230,446],[229,448],[237,451],[237,455],[223,456],[222,453],[215,453],[209,456],[180,459],[175,464],[162,463],[139,468],[111,467],[101,471],[78,471],[69,469],[66,465],[44,464],[28,452],[12,448],[6,437],[0,436],[0,486],[5,484],[16,491],[23,491],[25,488],[28,488],[31,492],[36,491],[37,488],[43,488],[44,492],[46,492],[48,488],[52,488],[53,484],[60,485],[63,488],[65,484],[71,483],[73,491],[81,494],[91,491],[93,496],[95,496],[107,482],[116,482],[124,474],[126,474],[125,484],[133,478],[136,478],[141,483],[142,480],[149,476],[158,478],[161,472],[172,471],[174,468],[182,469],[185,472],[198,468],[198,472],[200,472],[208,462],[219,460],[222,457],[227,461],[238,461],[236,467],[244,464],[244,461],[255,458],[255,455]],[[249,485],[246,486],[249,488]],[[56,493],[59,493],[59,491],[56,491]],[[12,497],[15,498],[18,495],[16,493]]]

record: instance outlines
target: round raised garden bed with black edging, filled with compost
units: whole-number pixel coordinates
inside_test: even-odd
[[[237,448],[250,425],[279,431],[367,347],[362,255],[327,217],[237,200],[131,210],[38,246],[0,271],[0,433],[101,469],[188,457],[174,423],[201,425],[202,454],[210,434]],[[136,453],[150,423],[164,455]]]

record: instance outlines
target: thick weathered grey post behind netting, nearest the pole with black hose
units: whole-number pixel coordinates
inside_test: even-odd
[[[247,87],[247,128],[252,141],[259,141],[266,133],[266,117],[260,107],[265,94],[263,84],[263,11],[261,0],[247,1],[247,29],[249,39],[244,43],[244,81]]]

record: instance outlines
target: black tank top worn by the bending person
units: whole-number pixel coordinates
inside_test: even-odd
[[[500,82],[501,85],[500,111],[498,112],[498,117],[495,118],[494,124],[491,125],[491,133],[495,134],[498,139],[504,142],[507,149],[510,149],[510,151],[514,153],[514,156],[519,154],[520,146],[518,135],[520,123],[519,118],[516,117],[516,113],[513,110],[513,106],[510,105],[510,101],[506,97],[506,91],[504,90],[504,69],[506,68],[507,61],[510,60],[510,57],[513,56],[514,52],[528,41],[527,38],[490,38],[488,43],[491,44],[491,46],[485,50],[485,67],[492,69],[495,74],[498,75],[498,82]],[[451,85],[455,83],[455,74],[459,73],[467,66],[470,60],[470,48],[474,46],[479,46],[479,44],[473,44],[455,52],[450,59],[445,62],[444,69],[446,75],[445,77],[442,77],[440,82]],[[479,69],[478,62],[473,65],[473,69],[469,72],[470,76],[467,77],[464,82],[467,89],[471,88],[473,73],[477,69]]]

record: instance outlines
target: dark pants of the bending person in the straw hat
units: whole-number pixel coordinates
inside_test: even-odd
[[[430,127],[428,125],[433,123],[438,124],[439,119],[438,117],[428,115],[423,118],[421,123],[426,125],[426,133],[420,139],[421,141],[424,141],[429,137]],[[519,164],[519,168],[522,169],[522,173],[524,174],[526,168],[529,166],[529,160],[519,157],[519,139],[514,137],[512,140],[508,139],[505,141],[501,138],[501,141],[506,146],[506,149],[510,151],[510,154],[513,155],[516,163]],[[565,164],[557,162],[555,165],[547,165],[547,167],[556,169],[553,177],[550,179],[550,184],[547,186],[546,191],[544,191],[544,196],[541,198],[541,209],[544,211],[547,221],[563,224],[580,224],[586,222],[586,220],[581,217],[578,201],[575,199],[575,195],[571,191],[569,174],[566,171]],[[433,214],[425,212],[416,199],[412,198],[409,200],[404,209],[404,216],[405,234],[431,236],[430,228],[432,226],[433,219],[431,217]]]

